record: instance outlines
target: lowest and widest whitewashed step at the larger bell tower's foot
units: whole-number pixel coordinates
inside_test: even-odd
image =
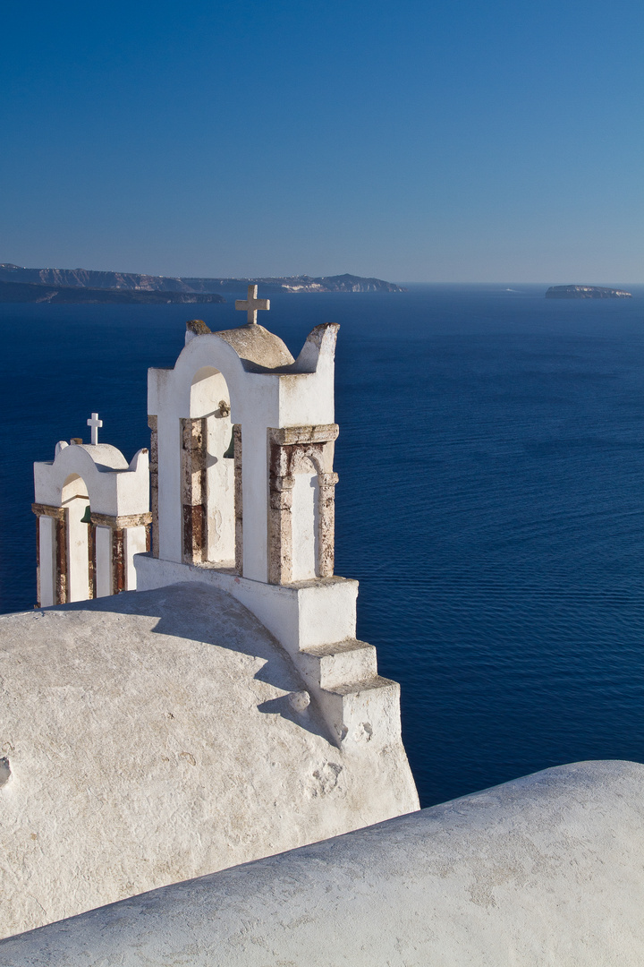
[[[320,689],[317,698],[340,746],[385,747],[401,740],[400,691],[397,682],[375,675]]]

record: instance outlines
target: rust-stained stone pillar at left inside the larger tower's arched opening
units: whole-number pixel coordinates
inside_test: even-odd
[[[207,559],[206,417],[182,419],[182,558],[184,564]]]

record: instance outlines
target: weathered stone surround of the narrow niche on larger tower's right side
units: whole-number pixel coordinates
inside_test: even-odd
[[[311,465],[318,475],[319,533],[317,574],[332,577],[335,556],[334,443],[338,425],[268,429],[268,582],[293,580],[293,487],[295,475]]]

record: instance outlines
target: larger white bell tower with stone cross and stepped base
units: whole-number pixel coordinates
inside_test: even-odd
[[[291,654],[335,742],[400,741],[399,687],[355,638],[357,582],[334,575],[336,324],[294,360],[255,321],[187,323],[172,368],[150,369],[152,553],[138,587],[206,581],[234,595]]]

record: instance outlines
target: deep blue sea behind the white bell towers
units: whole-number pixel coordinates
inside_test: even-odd
[[[423,806],[580,759],[644,762],[644,287],[271,296],[297,354],[339,322],[337,572],[402,685]],[[243,296],[243,293],[239,293]],[[260,293],[261,295],[261,293]],[[35,601],[32,462],[149,443],[148,366],[225,306],[0,306],[0,611]],[[266,316],[268,321],[266,322]]]

